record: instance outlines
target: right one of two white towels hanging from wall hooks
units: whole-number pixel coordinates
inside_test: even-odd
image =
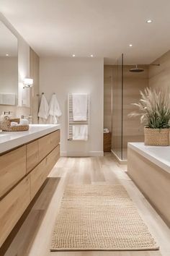
[[[54,93],[49,104],[50,124],[57,124],[58,117],[62,115],[57,96]]]

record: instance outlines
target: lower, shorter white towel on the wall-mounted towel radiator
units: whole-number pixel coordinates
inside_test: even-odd
[[[88,140],[88,125],[73,125],[73,140]]]

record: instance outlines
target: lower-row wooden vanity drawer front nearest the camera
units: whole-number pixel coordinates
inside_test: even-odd
[[[0,247],[30,203],[29,178],[24,178],[0,201]]]

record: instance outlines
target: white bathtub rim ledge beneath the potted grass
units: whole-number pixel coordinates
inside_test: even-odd
[[[156,147],[147,146],[143,142],[130,142],[128,148],[135,150],[143,155],[152,163],[168,171],[170,173],[170,146],[168,147]]]

